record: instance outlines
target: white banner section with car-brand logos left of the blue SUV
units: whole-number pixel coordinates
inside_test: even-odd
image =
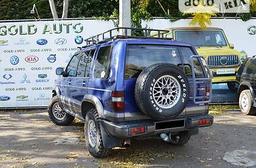
[[[0,23],[0,108],[47,106],[57,79],[84,39],[115,28],[112,21]]]

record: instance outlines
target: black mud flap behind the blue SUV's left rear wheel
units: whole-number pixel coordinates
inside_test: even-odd
[[[103,145],[105,148],[111,149],[122,145],[122,140],[109,134],[108,131],[102,125],[102,123],[100,123],[100,132],[103,140]]]

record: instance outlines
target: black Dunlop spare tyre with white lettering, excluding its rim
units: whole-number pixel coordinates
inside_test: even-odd
[[[170,75],[174,79],[177,79],[181,91],[180,91],[180,97],[178,102],[172,106],[172,108],[164,109],[158,106],[156,101],[154,101],[154,98],[152,96],[153,86],[156,83],[156,81],[165,75]],[[154,70],[154,74],[150,75],[146,81],[145,85],[145,93],[146,93],[146,104],[148,106],[148,109],[146,109],[148,112],[150,112],[150,115],[153,118],[156,118],[157,120],[166,120],[168,118],[172,118],[174,116],[177,116],[181,114],[181,112],[185,109],[187,105],[187,101],[189,99],[189,83],[187,81],[187,77],[185,77],[183,71],[177,67],[174,69],[174,66],[160,66],[157,69]],[[153,112],[152,112],[153,111]],[[159,115],[161,114],[161,115]]]

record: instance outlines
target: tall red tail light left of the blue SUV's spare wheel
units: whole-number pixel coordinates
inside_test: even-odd
[[[111,93],[112,108],[114,112],[117,112],[117,113],[124,112],[124,109],[125,109],[124,95],[125,93],[123,91],[113,91]]]

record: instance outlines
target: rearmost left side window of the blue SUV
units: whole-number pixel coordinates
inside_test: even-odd
[[[110,58],[111,46],[104,46],[98,50],[95,61],[94,77],[106,78],[108,75],[108,60]]]

